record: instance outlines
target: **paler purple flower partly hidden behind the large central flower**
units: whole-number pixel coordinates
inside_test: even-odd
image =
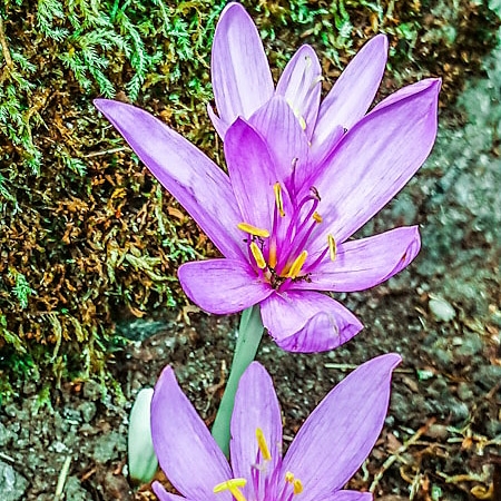
[[[219,117],[210,119],[222,138],[237,117],[249,119],[273,96],[283,96],[311,144],[311,160],[321,163],[366,112],[384,73],[387,39],[372,38],[345,68],[322,101],[322,67],[312,47],[292,57],[276,90],[259,33],[239,3],[222,12],[214,36],[212,81]],[[249,70],[252,68],[252,70]]]

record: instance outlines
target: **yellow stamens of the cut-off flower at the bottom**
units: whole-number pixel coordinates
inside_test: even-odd
[[[257,454],[252,465],[250,479],[237,478],[218,483],[213,492],[229,491],[236,501],[292,501],[303,492],[303,483],[293,473],[287,471],[281,479],[281,461],[271,464],[272,454],[264,436],[263,430],[256,430]],[[272,466],[272,468],[271,468]],[[247,497],[242,492],[247,483]]]

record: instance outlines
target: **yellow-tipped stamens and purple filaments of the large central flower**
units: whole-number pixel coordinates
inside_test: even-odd
[[[274,187],[275,206],[272,229],[259,228],[249,223],[239,223],[238,229],[246,233],[250,264],[261,278],[273,288],[284,291],[292,282],[308,279],[308,273],[326,256],[336,258],[336,242],[327,235],[327,245],[318,256],[312,258],[307,246],[322,224],[317,212],[321,197],[316,188],[301,200],[284,193],[279,183]]]

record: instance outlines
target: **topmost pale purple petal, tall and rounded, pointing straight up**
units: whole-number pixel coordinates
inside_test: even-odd
[[[259,33],[239,3],[223,11],[214,33],[212,81],[219,117],[233,124],[248,118],[274,92]]]

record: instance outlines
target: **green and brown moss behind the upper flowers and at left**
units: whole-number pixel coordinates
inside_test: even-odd
[[[6,0],[0,6],[0,393],[12,377],[106,376],[114,324],[180,308],[180,263],[214,248],[94,108],[154,112],[222,164],[205,112],[223,1]],[[480,71],[499,19],[485,1],[243,2],[279,73],[311,43],[326,89],[376,32],[387,94]]]

